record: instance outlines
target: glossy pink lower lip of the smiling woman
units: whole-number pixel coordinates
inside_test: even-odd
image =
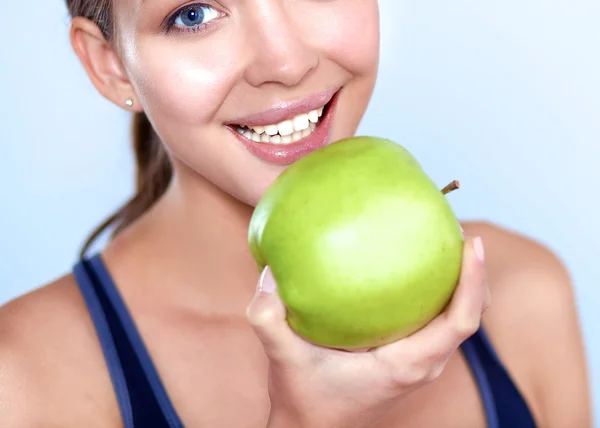
[[[295,143],[257,143],[247,139],[242,134],[237,132],[233,127],[230,127],[229,129],[244,145],[244,147],[246,147],[246,149],[248,149],[248,151],[257,158],[274,165],[291,165],[301,157],[321,147],[324,147],[329,143],[331,124],[333,122],[333,116],[337,106],[338,93],[336,93],[329,102],[325,113],[323,116],[321,116],[319,125],[315,128],[312,134]]]

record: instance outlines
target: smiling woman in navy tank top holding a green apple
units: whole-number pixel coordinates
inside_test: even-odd
[[[299,339],[258,277],[252,207],[367,107],[375,0],[67,4],[93,84],[135,113],[138,193],[101,256],[0,310],[3,427],[591,425],[567,272],[524,237],[464,224],[446,312],[369,352]]]

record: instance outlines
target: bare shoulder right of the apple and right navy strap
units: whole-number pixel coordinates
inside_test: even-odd
[[[585,348],[568,269],[548,247],[470,223],[481,236],[492,306],[483,324],[511,375],[548,427],[591,426]]]

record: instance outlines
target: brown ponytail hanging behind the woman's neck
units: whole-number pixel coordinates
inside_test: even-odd
[[[80,251],[82,258],[106,229],[113,227],[112,236],[115,236],[150,209],[165,193],[171,181],[171,162],[145,113],[135,113],[132,140],[136,160],[136,192],[90,234]]]

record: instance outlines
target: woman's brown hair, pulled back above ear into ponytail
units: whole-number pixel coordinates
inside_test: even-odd
[[[106,40],[114,36],[111,0],[66,0],[71,17],[82,16],[94,22]],[[146,212],[166,191],[173,170],[160,138],[145,113],[136,113],[132,123],[132,143],[136,160],[136,192],[114,214],[100,224],[85,241],[80,256],[106,229],[112,236],[121,232]]]

